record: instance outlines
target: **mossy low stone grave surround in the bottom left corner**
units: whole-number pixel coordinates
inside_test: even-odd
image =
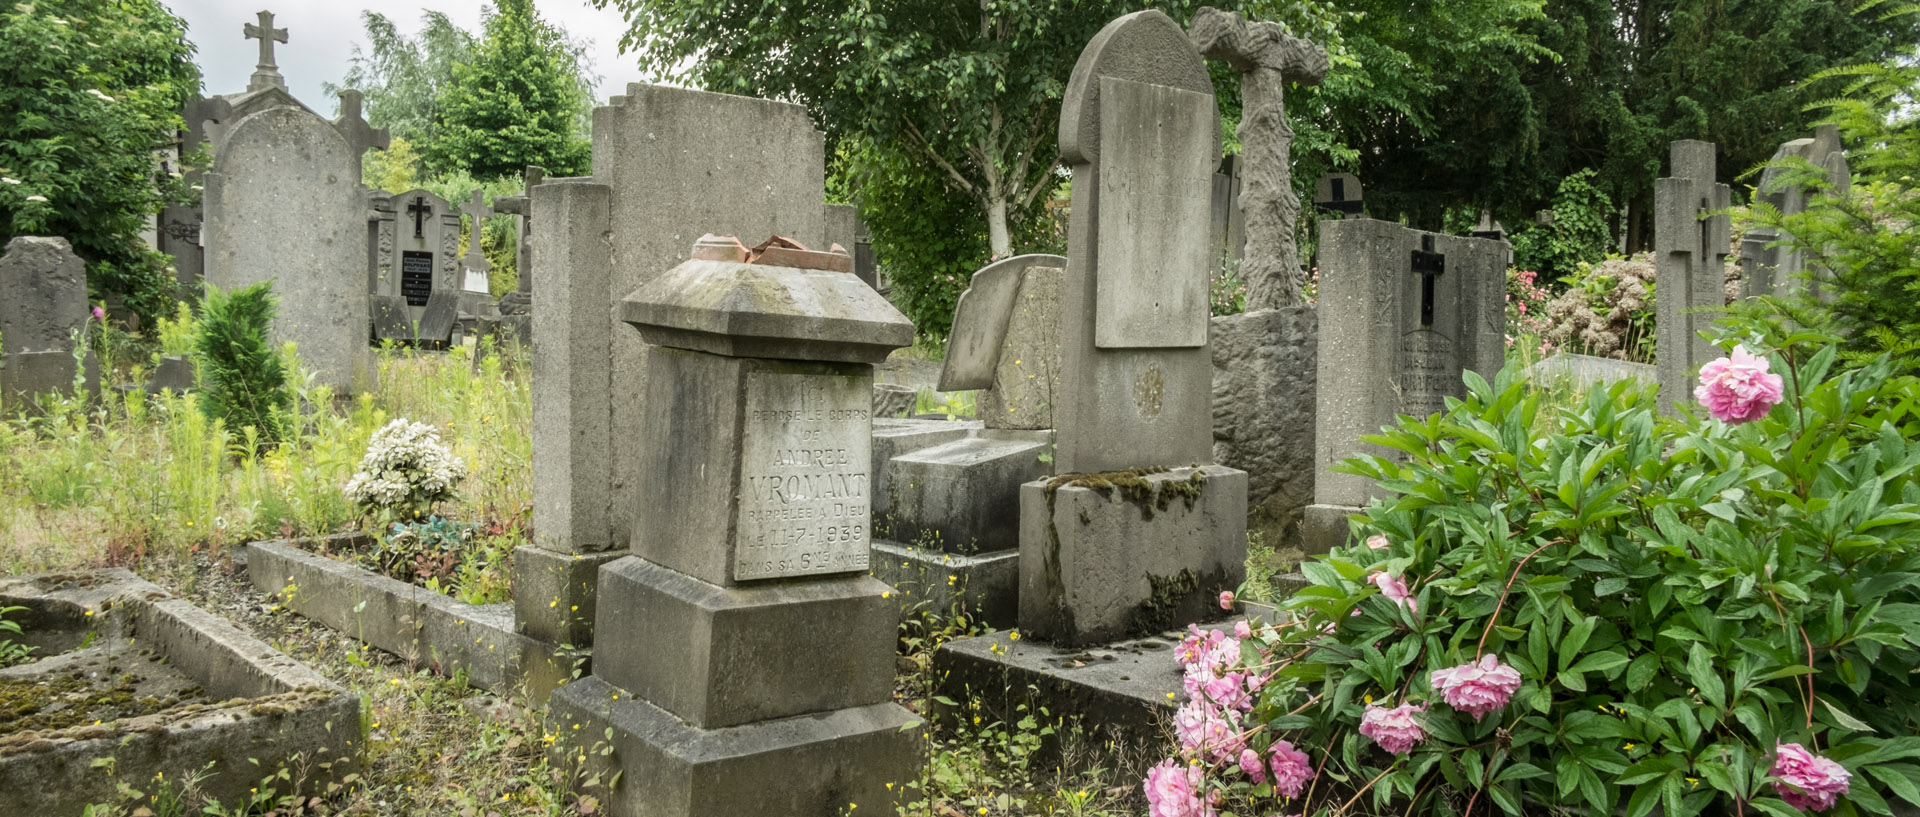
[[[4,577],[0,606],[27,608],[15,641],[38,658],[0,669],[0,690],[48,694],[0,721],[0,813],[77,815],[113,802],[119,781],[184,781],[209,763],[200,790],[221,802],[282,767],[303,771],[296,792],[319,794],[359,765],[357,694],[131,572]],[[94,767],[104,758],[113,775]]]

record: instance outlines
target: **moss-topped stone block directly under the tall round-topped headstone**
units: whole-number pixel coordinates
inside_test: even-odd
[[[1246,472],[1069,474],[1020,487],[1020,629],[1098,644],[1219,618],[1246,579]]]

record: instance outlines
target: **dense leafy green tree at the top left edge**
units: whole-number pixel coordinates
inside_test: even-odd
[[[63,236],[96,297],[173,311],[167,259],[140,242],[188,196],[154,150],[200,88],[186,25],[154,0],[42,0],[0,13],[0,244]],[[157,178],[156,178],[157,176]]]

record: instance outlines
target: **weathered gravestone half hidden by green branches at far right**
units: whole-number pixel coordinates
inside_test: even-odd
[[[1853,171],[1847,167],[1847,153],[1839,144],[1839,128],[1832,125],[1820,125],[1814,128],[1812,138],[1797,138],[1784,142],[1780,150],[1774,152],[1774,165],[1761,171],[1761,184],[1755,190],[1761,201],[1766,201],[1782,215],[1805,213],[1807,203],[1822,194],[1822,190],[1811,188],[1807,184],[1791,184],[1788,167],[1780,163],[1784,159],[1797,157],[1807,163],[1826,171],[1826,194],[1845,196],[1847,188],[1853,184]],[[1755,295],[1786,295],[1793,290],[1809,290],[1820,293],[1818,270],[1811,270],[1807,265],[1807,253],[1793,247],[1770,245],[1784,236],[1766,226],[1753,226],[1740,240],[1740,280],[1741,293],[1745,297]],[[1812,274],[1809,278],[1809,274]]]

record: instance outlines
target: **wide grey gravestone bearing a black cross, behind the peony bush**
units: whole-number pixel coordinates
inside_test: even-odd
[[[1386,221],[1323,221],[1313,504],[1308,552],[1346,543],[1373,481],[1338,474],[1348,456],[1388,451],[1361,435],[1396,414],[1428,416],[1463,397],[1461,372],[1488,382],[1505,364],[1507,244]]]

